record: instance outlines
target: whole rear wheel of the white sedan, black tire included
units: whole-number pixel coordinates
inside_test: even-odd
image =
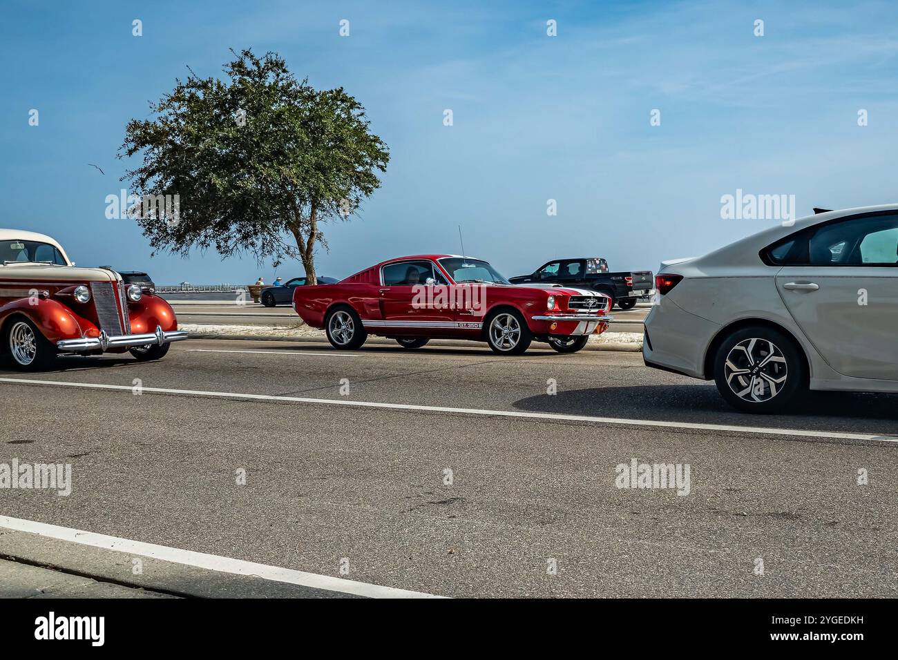
[[[744,412],[779,412],[806,391],[805,361],[793,339],[752,326],[724,339],[714,356],[718,392]]]

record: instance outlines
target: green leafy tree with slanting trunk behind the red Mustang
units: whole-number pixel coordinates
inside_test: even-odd
[[[380,187],[389,151],[343,88],[313,89],[275,53],[232,53],[227,81],[189,70],[150,104],[152,119],[128,122],[119,158],[143,162],[122,180],[141,197],[179,196],[175,221],[136,220],[154,254],[299,259],[313,284],[321,225],[347,220]]]

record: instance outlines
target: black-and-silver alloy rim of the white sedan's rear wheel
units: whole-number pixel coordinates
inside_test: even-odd
[[[770,339],[743,339],[726,355],[724,377],[740,399],[769,401],[786,385],[786,356]]]

